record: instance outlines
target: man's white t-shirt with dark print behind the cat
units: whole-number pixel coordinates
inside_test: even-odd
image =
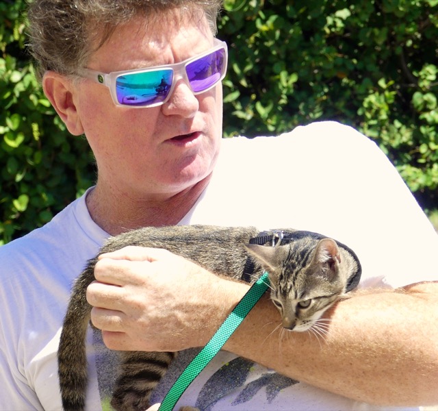
[[[276,138],[225,139],[211,182],[181,224],[294,227],[351,247],[360,286],[438,280],[438,236],[385,155],[350,127],[314,123]],[[56,351],[73,280],[107,238],[85,196],[0,247],[0,410],[60,410]],[[114,353],[88,334],[88,410],[101,410]],[[263,349],[263,347],[260,347]],[[161,401],[196,350],[153,393]],[[105,365],[104,365],[105,364]],[[220,352],[179,406],[202,410],[365,410],[365,404]],[[375,410],[376,407],[370,409]],[[385,408],[388,410],[388,408]]]

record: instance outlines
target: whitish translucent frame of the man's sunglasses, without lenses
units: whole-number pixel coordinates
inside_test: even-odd
[[[194,91],[192,90],[194,95],[199,95],[203,92],[207,92],[208,90],[211,90],[211,88],[214,88],[219,82],[224,79],[226,73],[227,73],[227,66],[228,66],[228,47],[227,43],[219,40],[218,38],[213,39],[214,47],[205,51],[205,53],[195,55],[194,57],[188,58],[187,60],[183,60],[182,62],[175,63],[175,64],[163,64],[162,66],[152,66],[152,67],[146,67],[144,69],[133,69],[133,70],[125,70],[125,71],[112,71],[111,73],[102,73],[101,71],[96,71],[92,69],[82,69],[80,77],[90,79],[92,82],[101,84],[102,86],[105,86],[110,89],[110,94],[112,97],[112,100],[114,101],[114,104],[118,107],[128,107],[128,108],[153,108],[157,107],[158,105],[163,105],[170,99],[172,96],[173,90],[175,89],[175,84],[179,81],[179,79],[184,79],[185,84],[187,84],[192,90],[192,86],[190,85],[187,71],[185,71],[185,67],[193,62],[194,60],[198,60],[200,58],[203,58],[205,55],[209,55],[211,53],[214,53],[215,51],[218,51],[220,49],[224,49],[224,71],[222,75],[220,76],[220,79],[218,79],[217,82],[212,84],[211,86],[205,88],[205,90],[201,91]],[[121,75],[126,74],[136,74],[136,73],[145,73],[145,72],[153,72],[153,71],[159,71],[162,69],[172,69],[173,71],[173,79],[172,79],[172,85],[170,86],[170,90],[168,92],[168,95],[166,96],[166,99],[163,101],[158,101],[157,103],[152,103],[149,105],[129,105],[129,104],[122,104],[119,103],[117,100],[117,92],[116,92],[116,80]]]

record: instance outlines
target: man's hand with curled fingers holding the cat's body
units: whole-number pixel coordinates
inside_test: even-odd
[[[179,351],[205,345],[248,286],[164,249],[99,257],[87,290],[92,323],[110,349]],[[237,291],[237,292],[236,292]]]

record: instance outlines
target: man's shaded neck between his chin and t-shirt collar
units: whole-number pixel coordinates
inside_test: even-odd
[[[116,195],[111,190],[101,188],[98,182],[87,195],[87,208],[93,221],[112,236],[140,227],[174,225],[194,206],[210,177],[159,200],[136,200],[121,193]]]

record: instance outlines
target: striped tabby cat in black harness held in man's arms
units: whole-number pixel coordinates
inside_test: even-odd
[[[271,299],[283,327],[306,331],[339,296],[357,286],[361,265],[355,253],[331,238],[294,229],[259,234],[255,227],[209,225],[145,227],[107,240],[100,253],[127,245],[155,247],[188,258],[209,271],[255,282],[268,271]],[[75,282],[57,355],[62,405],[83,410],[87,384],[86,331],[91,307],[86,288],[97,257]],[[112,406],[120,411],[149,407],[149,396],[176,353],[120,351]],[[145,372],[149,371],[149,372]]]

